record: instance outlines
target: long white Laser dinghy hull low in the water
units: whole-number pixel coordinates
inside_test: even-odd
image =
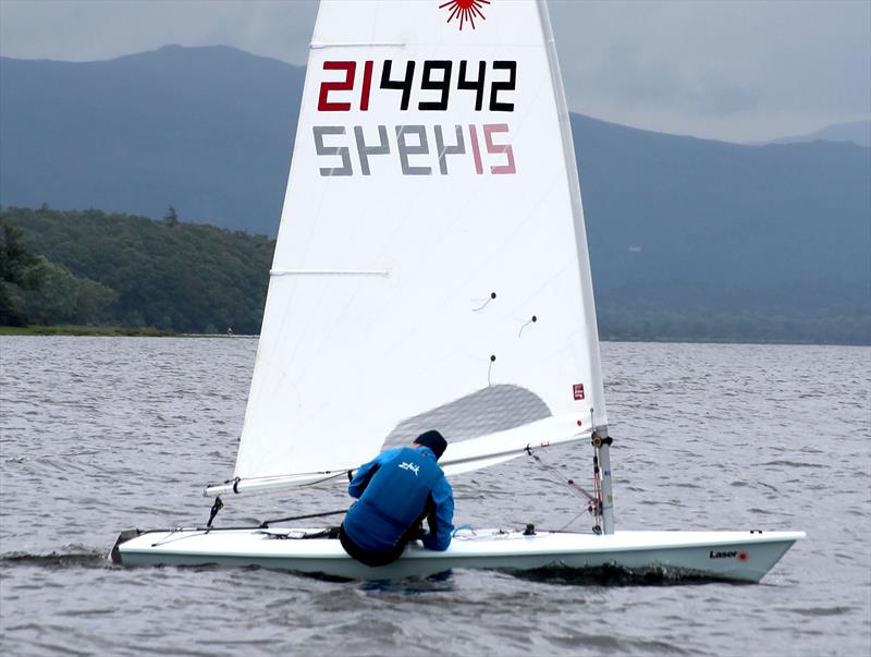
[[[119,537],[112,558],[124,565],[259,565],[353,580],[426,576],[455,568],[531,570],[617,567],[719,580],[759,582],[803,532],[616,532],[612,535],[486,530],[462,533],[444,552],[406,548],[369,568],[336,539],[302,538],[315,530],[174,530]],[[299,538],[297,538],[299,537]]]

